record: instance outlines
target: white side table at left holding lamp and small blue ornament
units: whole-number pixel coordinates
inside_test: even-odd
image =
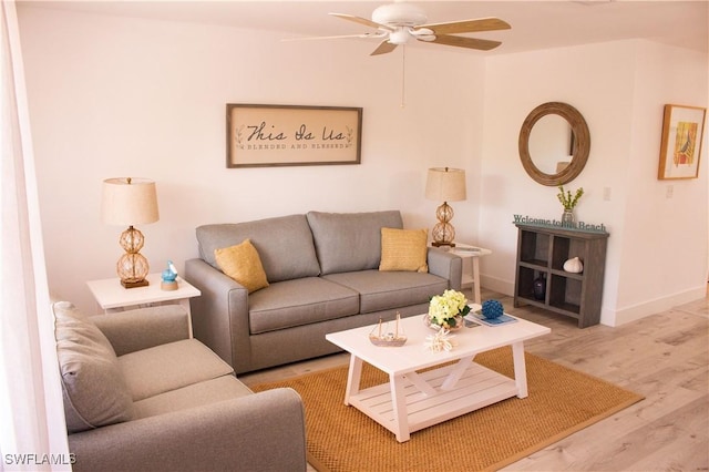
[[[187,311],[189,337],[192,338],[189,299],[201,296],[202,293],[182,277],[177,277],[177,290],[169,291],[160,288],[162,281],[160,274],[148,274],[145,278],[150,283],[146,287],[123,288],[117,277],[90,280],[86,285],[99,307],[106,314],[157,305],[181,305]]]

